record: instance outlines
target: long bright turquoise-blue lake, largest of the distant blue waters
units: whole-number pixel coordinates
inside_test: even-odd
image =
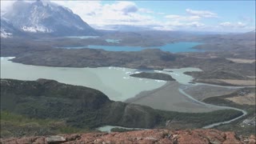
[[[194,46],[201,45],[200,42],[175,42],[168,43],[165,46],[154,46],[154,47],[141,47],[141,46],[97,46],[97,45],[89,45],[89,46],[66,46],[66,47],[58,47],[65,49],[102,49],[107,51],[141,51],[146,49],[160,49],[162,51],[169,51],[171,53],[181,53],[181,52],[202,52],[202,50],[192,49]]]

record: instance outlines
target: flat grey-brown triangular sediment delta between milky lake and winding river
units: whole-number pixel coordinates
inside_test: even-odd
[[[158,110],[170,110],[187,113],[209,112],[219,110],[218,108],[209,108],[193,102],[190,98],[178,91],[178,82],[167,82],[155,90],[143,91],[134,98],[129,98],[126,102],[143,106],[150,106]]]

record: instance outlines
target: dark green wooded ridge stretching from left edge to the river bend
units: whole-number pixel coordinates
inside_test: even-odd
[[[242,114],[236,110],[198,114],[154,110],[112,102],[98,90],[46,79],[1,79],[1,110],[1,132],[6,137],[73,133],[104,125],[161,128],[166,121],[173,122],[172,128],[201,128]]]

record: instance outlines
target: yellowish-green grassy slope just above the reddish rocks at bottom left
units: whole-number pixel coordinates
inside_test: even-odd
[[[28,118],[21,114],[1,110],[1,138],[72,134],[86,131],[89,130],[67,126],[66,122],[60,120]]]

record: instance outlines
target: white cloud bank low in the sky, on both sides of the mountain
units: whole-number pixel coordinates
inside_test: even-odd
[[[2,11],[14,1],[1,1]],[[214,22],[202,23],[204,18],[218,18],[218,14],[209,10],[186,9],[186,14],[167,14],[139,7],[136,2],[115,1],[103,4],[101,1],[56,1],[78,14],[90,26],[107,28],[110,25],[147,26],[154,30],[247,30],[249,23],[241,22]],[[255,28],[254,28],[255,29]]]

